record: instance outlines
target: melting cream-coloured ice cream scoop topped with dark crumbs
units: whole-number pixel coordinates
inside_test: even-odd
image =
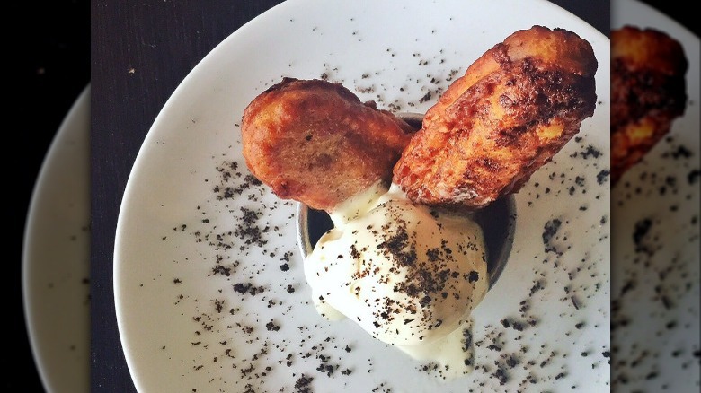
[[[305,259],[315,306],[391,345],[419,345],[461,327],[489,287],[484,236],[466,216],[377,187],[331,214]]]

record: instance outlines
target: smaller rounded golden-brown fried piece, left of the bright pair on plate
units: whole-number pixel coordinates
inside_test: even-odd
[[[413,128],[340,83],[284,78],[244,110],[244,158],[282,199],[332,211],[392,167]]]

